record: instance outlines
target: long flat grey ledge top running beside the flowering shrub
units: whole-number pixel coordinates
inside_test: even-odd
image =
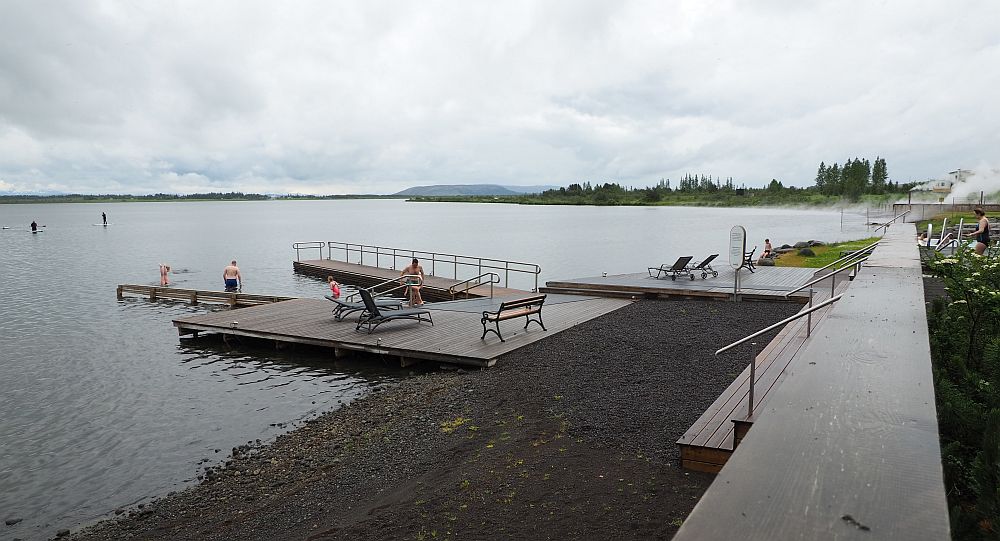
[[[886,232],[675,541],[950,539],[915,233]]]

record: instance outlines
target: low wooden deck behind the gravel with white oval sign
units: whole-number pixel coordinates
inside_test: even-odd
[[[702,279],[698,274],[694,280],[687,277],[652,278],[648,272],[634,274],[613,274],[591,278],[557,280],[545,283],[539,288],[544,293],[575,293],[607,297],[694,297],[730,299],[733,296],[735,271],[731,267],[716,267],[718,277],[709,275]],[[814,269],[797,267],[757,267],[756,272],[740,271],[740,297],[744,299],[783,300],[784,294],[805,284],[815,276]],[[826,287],[829,282],[817,284]],[[805,302],[808,293],[796,293],[798,302]]]

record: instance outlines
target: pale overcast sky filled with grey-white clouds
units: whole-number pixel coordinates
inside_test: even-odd
[[[0,192],[1000,165],[1000,2],[0,0]]]

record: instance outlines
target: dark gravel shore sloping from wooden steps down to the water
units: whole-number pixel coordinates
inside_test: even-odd
[[[234,449],[103,539],[670,538],[714,476],[675,444],[745,367],[715,349],[792,304],[642,301]]]

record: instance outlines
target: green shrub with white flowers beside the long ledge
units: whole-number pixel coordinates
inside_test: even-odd
[[[948,293],[928,324],[952,535],[1000,536],[1000,258],[963,249],[927,266]]]

